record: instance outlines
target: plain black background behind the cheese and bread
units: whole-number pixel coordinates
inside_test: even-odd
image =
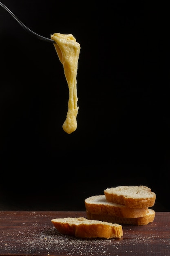
[[[81,45],[77,130],[66,134],[68,86],[53,44],[0,6],[1,209],[84,210],[84,199],[146,185],[170,211],[166,7],[148,1],[2,1],[27,27]]]

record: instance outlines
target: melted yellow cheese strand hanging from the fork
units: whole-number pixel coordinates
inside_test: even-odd
[[[68,112],[63,124],[63,130],[70,134],[77,128],[77,66],[80,45],[72,34],[55,33],[51,35],[59,60],[63,64],[64,74],[69,88]]]

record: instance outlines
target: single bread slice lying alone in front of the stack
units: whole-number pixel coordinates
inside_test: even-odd
[[[121,238],[121,225],[100,220],[79,218],[57,218],[51,220],[55,228],[61,233],[79,238]]]

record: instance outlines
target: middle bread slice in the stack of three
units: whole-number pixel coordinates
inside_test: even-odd
[[[139,218],[146,215],[148,207],[129,208],[125,205],[108,202],[105,195],[94,195],[85,199],[86,210],[94,214],[123,218]]]

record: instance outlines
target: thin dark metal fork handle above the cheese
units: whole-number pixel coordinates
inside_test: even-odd
[[[18,18],[4,5],[2,4],[2,2],[0,2],[0,5],[6,10],[8,11],[11,16],[21,25],[21,27],[23,29],[25,29],[29,34],[31,34],[32,36],[35,36],[36,38],[43,40],[45,42],[49,42],[49,43],[55,43],[54,40],[51,40],[50,38],[46,38],[44,36],[40,36],[38,34],[36,34],[35,32],[33,32],[31,29],[29,29],[28,27],[26,27],[20,20],[18,20]]]

